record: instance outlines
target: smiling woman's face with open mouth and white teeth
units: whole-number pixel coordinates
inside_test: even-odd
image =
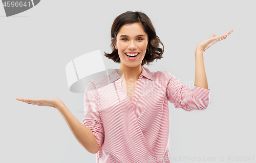
[[[147,34],[140,23],[123,25],[117,34],[115,48],[121,64],[129,67],[140,66],[147,49]],[[135,55],[129,58],[127,55]]]

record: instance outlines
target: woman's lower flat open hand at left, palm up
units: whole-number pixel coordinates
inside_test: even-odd
[[[17,98],[16,100],[26,102],[28,104],[38,106],[50,106],[56,109],[57,105],[61,103],[59,98],[39,98],[39,99],[28,99],[28,98]]]

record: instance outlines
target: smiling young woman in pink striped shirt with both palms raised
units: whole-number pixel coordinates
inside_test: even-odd
[[[150,18],[127,11],[114,20],[113,52],[105,53],[120,67],[102,77],[110,81],[104,89],[98,86],[102,80],[89,81],[83,124],[58,98],[16,100],[56,108],[84,149],[97,154],[97,162],[171,162],[168,101],[186,111],[209,106],[203,52],[232,32],[219,37],[212,34],[197,45],[195,87],[191,89],[168,72],[150,72],[143,66],[163,58],[163,43]]]

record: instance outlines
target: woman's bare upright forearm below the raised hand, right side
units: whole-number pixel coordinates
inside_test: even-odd
[[[196,49],[195,57],[196,57],[196,75],[195,75],[195,86],[208,89],[208,83],[204,68],[204,51]]]

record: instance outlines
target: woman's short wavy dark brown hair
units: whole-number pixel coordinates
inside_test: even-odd
[[[116,43],[116,36],[123,25],[133,24],[135,22],[141,23],[143,30],[145,31],[148,37],[148,49],[146,50],[146,54],[144,59],[142,60],[141,65],[149,65],[154,60],[163,58],[162,55],[164,52],[164,46],[162,41],[157,36],[155,28],[153,27],[150,18],[147,17],[146,14],[139,11],[127,11],[115,18],[113,25],[111,27],[111,38],[113,37],[111,42],[111,48],[113,51],[110,54],[104,52],[104,56],[108,57],[109,59],[112,59],[116,63],[120,63],[118,51],[115,49],[114,46],[114,44]],[[163,49],[159,47],[160,44],[163,46]]]

